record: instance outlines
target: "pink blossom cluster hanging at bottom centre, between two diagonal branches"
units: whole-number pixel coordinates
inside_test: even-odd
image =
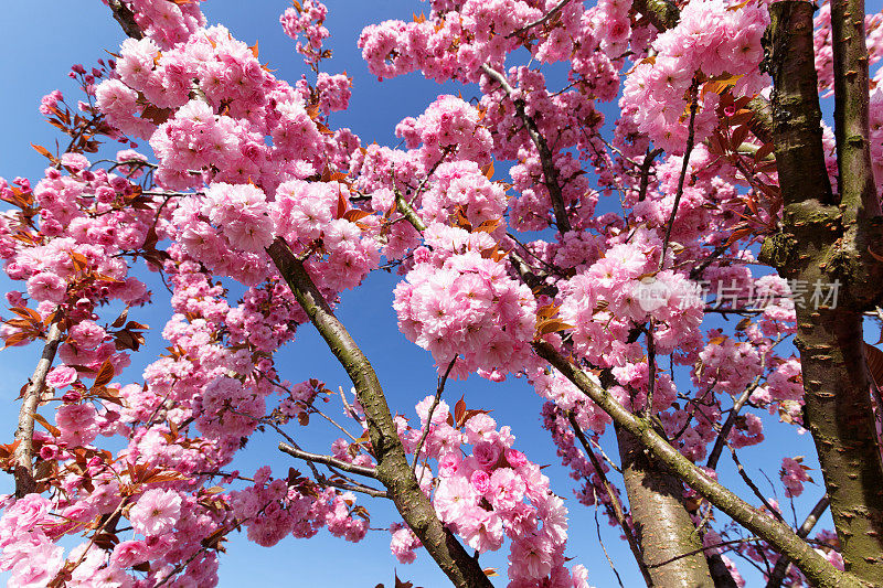
[[[465,411],[457,423],[447,403],[438,402],[430,414],[433,406],[433,396],[417,405],[421,426],[406,428],[402,440],[413,452],[426,435],[415,459],[424,460],[418,479],[425,492],[434,489],[439,518],[478,553],[499,549],[508,536],[510,588],[586,587],[582,566],[564,567],[564,501],[552,493],[540,467],[513,448],[509,427],[498,428],[481,410]],[[428,460],[437,462],[435,475]],[[415,544],[407,533],[396,528],[393,534],[393,552],[402,562],[413,559]]]

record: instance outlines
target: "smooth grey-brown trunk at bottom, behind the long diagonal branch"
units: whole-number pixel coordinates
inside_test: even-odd
[[[618,428],[623,477],[631,520],[653,586],[709,588],[714,586],[699,536],[683,503],[680,480],[648,458],[643,446]],[[682,554],[692,555],[680,557]]]

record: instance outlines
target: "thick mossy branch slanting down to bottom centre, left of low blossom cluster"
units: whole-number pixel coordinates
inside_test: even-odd
[[[417,484],[386,405],[383,388],[368,357],[334,317],[304,264],[294,256],[288,245],[277,238],[267,248],[267,253],[300,307],[352,379],[359,403],[365,413],[371,447],[377,460],[376,479],[386,488],[402,518],[455,586],[489,588],[490,580],[478,562],[442,525],[429,499]]]

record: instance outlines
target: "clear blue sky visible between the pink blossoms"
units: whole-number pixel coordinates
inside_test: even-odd
[[[353,99],[345,113],[333,115],[334,126],[349,126],[361,136],[363,143],[377,141],[396,145],[395,125],[406,116],[416,116],[439,94],[457,94],[461,88],[439,85],[418,75],[409,75],[392,81],[377,82],[368,73],[355,46],[359,33],[369,23],[385,19],[409,19],[412,12],[428,12],[428,6],[408,0],[373,0],[370,2],[350,0],[329,0],[327,26],[332,38],[327,46],[334,51],[334,57],[327,62],[329,73],[347,71],[353,78]],[[309,74],[300,56],[294,51],[294,43],[285,36],[278,24],[278,17],[290,6],[285,1],[264,0],[260,2],[211,0],[204,4],[211,23],[222,23],[231,29],[234,36],[253,43],[259,40],[260,58],[276,68],[278,77],[294,83],[301,74]],[[52,89],[64,92],[70,103],[77,99],[73,84],[66,77],[70,66],[82,63],[89,67],[108,52],[116,52],[124,39],[109,11],[97,0],[64,0],[63,2],[33,2],[32,0],[6,0],[3,19],[0,22],[0,74],[7,79],[0,93],[0,120],[3,138],[0,141],[0,177],[12,179],[17,175],[36,181],[45,167],[45,159],[33,151],[29,143],[54,146],[57,133],[46,125],[36,107],[41,96]],[[472,93],[466,88],[464,98]],[[498,173],[501,168],[498,165]],[[168,317],[168,295],[153,276],[147,276],[155,292],[156,304],[151,309],[134,311],[130,318],[149,323],[148,348],[134,357],[132,367],[123,375],[124,382],[139,382],[140,371],[163,346],[159,335]],[[414,404],[435,388],[435,371],[429,355],[402,336],[395,327],[395,314],[391,308],[392,288],[396,276],[384,272],[373,275],[355,292],[343,296],[340,317],[350,328],[357,341],[363,346],[383,382],[393,410],[407,416],[413,415]],[[0,277],[3,291],[12,287]],[[15,286],[21,288],[20,285]],[[108,313],[107,317],[113,320]],[[15,397],[19,387],[33,370],[39,356],[35,346],[7,350],[0,354],[0,370],[6,385],[0,388],[0,430],[9,431],[4,438],[11,440],[18,415]],[[325,343],[310,327],[298,332],[297,341],[278,355],[278,365],[284,376],[292,382],[318,377],[336,389],[338,385],[349,388],[343,371],[331,357]],[[591,584],[598,587],[616,586],[616,579],[599,547],[595,518],[592,510],[585,509],[573,499],[574,482],[567,471],[560,466],[555,448],[549,435],[540,427],[539,410],[541,402],[532,389],[521,381],[497,385],[478,377],[467,383],[450,383],[446,398],[453,404],[466,395],[470,408],[491,408],[498,423],[512,427],[517,436],[515,447],[528,452],[529,457],[542,464],[551,464],[545,472],[552,479],[553,490],[567,499],[571,510],[571,539],[568,556],[583,563],[589,570]],[[724,400],[726,404],[726,400]],[[333,406],[333,405],[331,405]],[[333,409],[332,409],[333,411]],[[756,469],[759,464],[767,475],[777,479],[778,460],[783,455],[807,455],[807,463],[816,467],[808,436],[797,436],[789,428],[776,427],[777,419],[769,419],[767,428],[769,445],[787,447],[787,453],[774,452],[774,460],[765,459],[764,450],[744,449],[740,452],[743,463],[752,470],[755,480],[770,494],[769,485]],[[305,449],[325,452],[337,435],[330,427],[315,423],[307,429],[297,429],[298,440]],[[610,437],[605,438],[605,449],[616,456]],[[283,475],[289,466],[304,469],[302,463],[276,450],[278,439],[269,434],[256,434],[247,449],[234,464],[244,474],[251,475],[265,463],[274,467],[277,475]],[[762,446],[764,447],[764,446]],[[768,446],[767,446],[768,447]],[[722,478],[732,482],[737,480],[727,456],[721,460]],[[811,472],[820,479],[818,471]],[[749,492],[744,484],[733,484],[743,496]],[[8,477],[0,480],[0,492],[12,488]],[[780,488],[779,488],[780,492]],[[797,501],[798,517],[808,512],[821,495],[818,485],[808,484],[806,499]],[[381,501],[360,496],[372,513],[372,526],[385,527],[391,521],[391,509]],[[787,505],[785,506],[788,513]],[[786,518],[790,518],[789,513]],[[625,586],[642,584],[640,575],[627,547],[618,539],[618,532],[606,524],[606,516],[599,517],[600,532],[610,557]],[[227,554],[222,556],[221,586],[243,585],[264,586],[339,586],[373,588],[377,582],[392,586],[393,569],[400,577],[412,580],[415,586],[446,586],[440,571],[425,554],[419,554],[417,563],[402,566],[389,550],[390,535],[372,532],[360,544],[349,544],[327,533],[312,539],[288,538],[273,548],[259,547],[244,536],[232,536]],[[506,585],[506,557],[508,548],[497,554],[482,556],[485,566],[498,567],[503,575],[497,585]],[[744,567],[744,566],[743,566]]]

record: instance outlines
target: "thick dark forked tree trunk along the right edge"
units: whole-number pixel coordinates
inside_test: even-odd
[[[863,22],[860,10],[852,18]],[[795,344],[806,391],[805,425],[816,442],[845,569],[881,586],[883,462],[864,357],[862,310],[873,296],[880,299],[880,268],[872,258],[869,263],[864,247],[871,243],[869,235],[876,234],[877,243],[883,239],[879,218],[873,218],[879,215],[876,195],[870,199],[868,194],[871,170],[854,152],[857,143],[868,145],[862,138],[866,137],[866,113],[864,135],[861,122],[853,120],[849,137],[843,132],[838,137],[838,153],[843,154],[841,193],[831,191],[821,143],[812,12],[813,6],[805,1],[770,6],[765,63],[775,86],[774,140],[785,218],[783,232],[764,244],[762,258],[798,287]],[[866,57],[864,63],[866,72]],[[849,119],[854,105],[843,103],[842,86],[839,83],[838,117]],[[864,88],[866,93],[866,81]],[[838,127],[844,125],[850,126],[841,121]],[[870,186],[873,190],[873,183]],[[811,295],[816,285],[837,292],[837,299],[800,298],[799,290]]]

